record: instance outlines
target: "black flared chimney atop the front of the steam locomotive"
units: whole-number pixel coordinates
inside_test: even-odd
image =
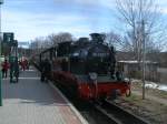
[[[100,33],[91,33],[90,37],[91,37],[91,41],[101,42],[101,43],[105,41],[106,38],[105,34],[100,34]]]

